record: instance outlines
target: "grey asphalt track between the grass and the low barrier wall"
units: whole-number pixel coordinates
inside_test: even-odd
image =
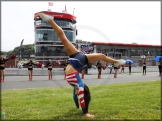
[[[118,74],[118,78],[113,78],[113,74],[104,74],[101,79],[98,79],[96,74],[85,75],[83,82],[87,85],[101,85],[161,80],[158,74],[158,72],[147,72],[147,75],[142,75],[141,73],[129,75],[126,73]],[[28,76],[6,76],[5,82],[1,82],[1,90],[65,86],[69,86],[69,84],[64,80],[63,75],[53,76],[52,80],[48,80],[47,76],[33,76],[33,81],[28,81]]]

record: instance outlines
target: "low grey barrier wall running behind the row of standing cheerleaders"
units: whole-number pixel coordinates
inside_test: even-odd
[[[5,75],[15,75],[15,76],[27,76],[28,75],[28,69],[27,68],[6,68],[5,69]],[[121,71],[121,68],[119,69],[119,71]],[[131,69],[132,73],[134,72],[139,72],[142,73],[143,72],[143,67],[132,67]],[[157,66],[147,66],[146,67],[146,71],[147,72],[157,72],[158,73],[158,67]],[[110,72],[110,68],[107,67],[105,70],[102,70],[102,74],[108,74]],[[129,72],[129,68],[125,67],[124,68],[124,72],[128,73]],[[87,69],[86,74],[97,74],[97,68],[93,67],[90,69]],[[114,73],[114,69],[112,69],[112,73]],[[48,70],[47,68],[33,68],[33,75],[38,75],[38,76],[44,76],[44,75],[48,75]],[[64,75],[64,70],[63,68],[53,68],[52,69],[52,75],[53,76],[57,76],[57,75]]]

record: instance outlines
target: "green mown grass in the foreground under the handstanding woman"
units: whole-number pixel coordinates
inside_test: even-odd
[[[160,81],[89,86],[92,120],[160,119]],[[72,87],[2,90],[6,119],[85,120],[76,109]],[[91,119],[88,119],[91,120]]]

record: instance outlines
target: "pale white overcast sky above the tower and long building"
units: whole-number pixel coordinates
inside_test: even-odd
[[[77,17],[77,39],[161,45],[160,1],[53,1],[53,12],[66,9]],[[75,9],[74,9],[75,8]],[[34,13],[46,11],[48,1],[1,2],[1,50],[34,43]]]

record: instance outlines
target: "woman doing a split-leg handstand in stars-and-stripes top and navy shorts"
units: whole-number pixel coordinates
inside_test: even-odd
[[[64,45],[65,51],[67,55],[70,57],[68,59],[68,65],[66,67],[66,80],[67,82],[74,87],[75,90],[78,90],[77,95],[79,96],[80,105],[82,107],[82,111],[84,116],[86,117],[94,117],[94,115],[88,112],[88,105],[89,103],[85,99],[85,84],[83,83],[79,73],[84,69],[84,66],[91,62],[96,62],[98,60],[103,60],[107,63],[114,63],[116,65],[125,64],[125,60],[115,60],[110,57],[107,57],[105,54],[102,53],[93,53],[93,54],[82,54],[66,37],[63,29],[59,27],[54,22],[54,17],[48,15],[48,12],[41,13],[39,12],[38,15],[44,20],[47,21],[58,37],[60,38],[62,44]],[[90,98],[89,98],[90,100]]]

